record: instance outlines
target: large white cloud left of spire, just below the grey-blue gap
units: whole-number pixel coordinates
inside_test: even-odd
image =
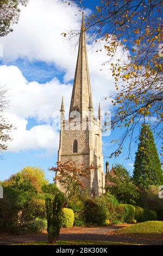
[[[9,112],[20,118],[48,121],[56,117],[64,96],[70,104],[71,84],[61,84],[57,78],[45,84],[28,82],[16,66],[0,66],[0,82],[9,89]]]

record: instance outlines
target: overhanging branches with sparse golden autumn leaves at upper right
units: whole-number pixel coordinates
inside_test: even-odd
[[[84,8],[84,1],[74,2]],[[115,80],[116,93],[105,98],[114,105],[111,127],[126,127],[112,155],[121,154],[130,138],[129,156],[140,123],[148,120],[158,136],[162,131],[163,4],[161,0],[99,0],[96,4],[87,16],[85,30],[99,50],[105,48],[108,61],[103,65]]]

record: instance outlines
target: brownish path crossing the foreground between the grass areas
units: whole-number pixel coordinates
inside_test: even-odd
[[[108,241],[140,245],[163,245],[163,237],[162,239],[146,239],[144,237],[135,238],[122,235],[113,235],[112,231],[118,228],[121,227],[110,225],[109,227],[62,229],[59,235],[59,240]],[[41,241],[47,241],[47,234],[0,236],[0,245]]]

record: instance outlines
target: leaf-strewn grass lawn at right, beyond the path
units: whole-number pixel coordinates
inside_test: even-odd
[[[159,238],[163,237],[163,221],[146,221],[124,227],[114,231],[117,235],[143,236]]]

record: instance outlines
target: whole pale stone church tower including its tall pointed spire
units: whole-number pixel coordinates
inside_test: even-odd
[[[87,63],[84,16],[79,39],[79,50],[74,76],[68,120],[64,117],[64,100],[60,109],[60,143],[58,161],[83,163],[85,167],[91,165],[89,179],[85,178],[84,185],[91,197],[104,193],[105,175],[103,172],[101,108],[98,117],[94,117],[92,94],[90,86],[89,68]],[[63,191],[59,181],[57,186]]]

